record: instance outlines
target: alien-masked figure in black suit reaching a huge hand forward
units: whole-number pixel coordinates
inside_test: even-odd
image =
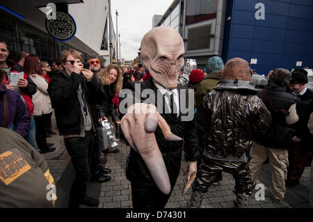
[[[131,181],[134,208],[165,207],[180,171],[181,138],[188,148],[187,179],[192,181],[191,175],[195,175],[199,157],[198,136],[193,118],[184,120],[182,103],[188,104],[189,98],[184,94],[186,88],[177,85],[179,70],[184,65],[183,55],[184,42],[175,29],[166,26],[152,29],[141,41],[143,64],[150,70],[152,78],[126,86],[128,92],[124,100],[134,95],[136,102],[121,122],[125,138],[131,145],[126,176]],[[147,92],[150,93],[147,95]],[[134,97],[131,97],[131,104]],[[120,102],[121,113],[124,113],[121,108],[125,101]],[[191,106],[193,113],[192,101]],[[145,111],[151,112],[146,114]],[[150,125],[152,122],[154,124]]]

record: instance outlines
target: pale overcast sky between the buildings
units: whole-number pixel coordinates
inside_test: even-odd
[[[118,10],[118,33],[122,55],[120,58],[132,60],[138,56],[143,35],[152,29],[153,15],[163,15],[171,3],[172,0],[111,0],[115,32],[115,10]]]

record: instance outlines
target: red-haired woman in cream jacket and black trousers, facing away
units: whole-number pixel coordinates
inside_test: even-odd
[[[35,119],[36,141],[39,150],[42,153],[51,152],[56,148],[51,148],[47,144],[46,123],[51,118],[52,107],[49,94],[47,92],[48,83],[42,75],[40,68],[40,59],[38,56],[26,56],[24,62],[24,70],[31,80],[37,85],[37,91],[33,95],[33,116]]]

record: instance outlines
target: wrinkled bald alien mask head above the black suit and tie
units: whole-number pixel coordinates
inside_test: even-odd
[[[179,70],[184,66],[184,41],[168,26],[154,28],[141,40],[141,58],[157,84],[177,87]]]

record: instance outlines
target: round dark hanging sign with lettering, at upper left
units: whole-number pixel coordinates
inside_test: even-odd
[[[56,19],[46,19],[46,28],[52,38],[67,41],[76,33],[76,24],[70,14],[56,12]]]

